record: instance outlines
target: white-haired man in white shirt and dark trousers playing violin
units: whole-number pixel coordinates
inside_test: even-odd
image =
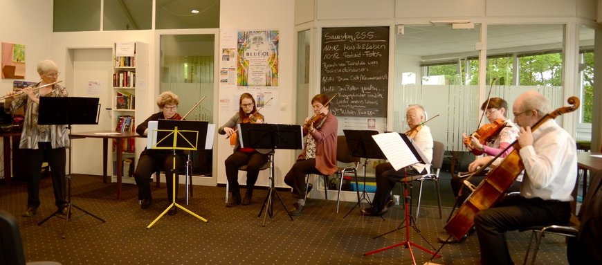
[[[405,110],[405,118],[408,122],[408,127],[410,127],[406,135],[408,135],[408,138],[414,140],[416,146],[421,149],[422,154],[424,154],[428,161],[431,161],[433,142],[430,128],[423,125],[423,122],[426,120],[424,108],[419,104],[408,106]],[[395,204],[395,201],[391,197],[391,191],[397,181],[401,180],[403,176],[408,176],[408,179],[410,179],[412,176],[428,173],[430,173],[430,165],[422,163],[402,168],[399,171],[396,171],[391,163],[376,165],[376,192],[372,200],[372,207],[362,209],[362,214],[371,216],[385,214]]]

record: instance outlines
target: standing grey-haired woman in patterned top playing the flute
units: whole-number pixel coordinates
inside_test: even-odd
[[[37,64],[37,73],[41,82],[28,86],[21,92],[12,91],[6,95],[4,109],[8,113],[25,106],[25,120],[19,148],[24,149],[25,159],[30,163],[26,167],[27,174],[27,210],[23,217],[37,214],[39,202],[39,179],[44,158],[51,167],[55,204],[66,212],[65,187],[65,147],[69,145],[66,125],[38,125],[40,97],[66,97],[67,91],[57,83],[59,75],[57,65],[51,60],[43,60]],[[48,86],[45,86],[50,84]],[[15,95],[19,93],[19,95]]]

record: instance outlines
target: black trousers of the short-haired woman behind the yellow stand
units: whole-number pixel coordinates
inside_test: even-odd
[[[178,196],[179,173],[182,171],[183,154],[176,153],[176,198]],[[150,190],[150,178],[154,172],[163,170],[165,172],[165,182],[167,183],[167,199],[169,203],[174,202],[173,196],[173,173],[174,173],[174,153],[172,151],[145,150],[138,158],[134,179],[138,185],[138,199],[149,199],[152,197]]]

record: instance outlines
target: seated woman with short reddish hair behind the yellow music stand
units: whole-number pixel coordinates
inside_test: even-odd
[[[140,136],[148,136],[148,122],[151,120],[181,120],[182,116],[176,111],[178,110],[178,104],[180,100],[178,95],[172,93],[172,91],[165,91],[157,98],[157,106],[161,111],[152,114],[144,122],[140,123],[136,127],[136,133]],[[185,161],[185,155],[183,150],[176,150],[176,197],[178,194],[178,183],[179,183],[179,172],[183,161]],[[140,201],[140,208],[149,208],[152,202],[152,194],[150,191],[150,179],[154,172],[163,170],[165,172],[165,181],[167,183],[167,203],[171,205],[176,198],[173,198],[172,193],[172,176],[174,174],[174,151],[171,149],[144,149],[138,158],[138,165],[136,166],[136,172],[134,172],[134,178],[138,185],[138,200]],[[176,206],[170,208],[167,214],[174,215],[177,213]]]

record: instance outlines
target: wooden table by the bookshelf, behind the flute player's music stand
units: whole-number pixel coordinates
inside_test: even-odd
[[[102,181],[107,183],[109,180],[109,175],[107,175],[107,167],[109,163],[107,162],[107,156],[109,155],[109,139],[115,139],[117,141],[117,163],[116,164],[116,173],[117,173],[117,199],[121,197],[121,178],[122,178],[122,152],[123,152],[123,140],[127,140],[129,138],[139,137],[135,131],[122,131],[120,134],[109,134],[115,133],[116,131],[86,131],[86,132],[78,132],[72,133],[71,139],[81,139],[81,138],[102,138]]]

